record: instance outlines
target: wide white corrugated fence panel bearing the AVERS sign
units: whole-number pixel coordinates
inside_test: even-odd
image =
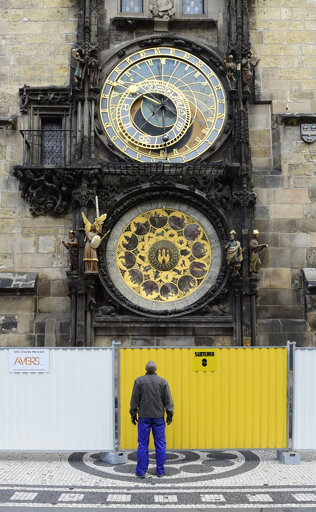
[[[113,450],[112,349],[50,349],[49,373],[9,373],[0,350],[0,450]]]

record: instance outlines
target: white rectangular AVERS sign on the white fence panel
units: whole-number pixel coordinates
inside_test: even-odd
[[[9,349],[9,373],[48,373],[49,349]]]

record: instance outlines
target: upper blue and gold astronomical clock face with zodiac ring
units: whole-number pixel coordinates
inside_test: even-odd
[[[141,162],[186,162],[219,137],[226,117],[223,86],[185,50],[139,50],[107,77],[100,115],[109,139]]]

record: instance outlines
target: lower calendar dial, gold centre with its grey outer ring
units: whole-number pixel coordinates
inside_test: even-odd
[[[193,206],[178,201],[172,202],[173,207],[156,203],[151,208],[137,205],[114,226],[107,249],[109,273],[135,304],[155,310],[175,302],[183,307],[216,279],[221,263],[219,238]]]

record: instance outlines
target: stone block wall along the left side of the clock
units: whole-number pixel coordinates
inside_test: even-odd
[[[72,214],[31,217],[13,166],[22,163],[19,130],[28,128],[18,89],[24,84],[69,85],[77,12],[77,2],[71,0],[2,0],[0,5],[0,272],[38,274],[36,298],[0,297],[0,346],[34,346],[36,314],[69,312],[62,270],[67,251],[61,240],[68,238]],[[8,314],[17,316],[15,323]],[[38,338],[38,345],[43,344]]]

